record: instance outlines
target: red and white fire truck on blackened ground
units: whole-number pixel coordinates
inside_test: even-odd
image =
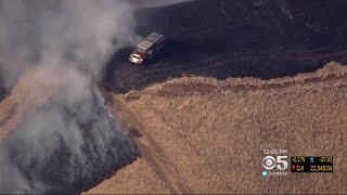
[[[133,52],[129,56],[129,61],[137,65],[149,62],[162,51],[165,42],[166,40],[163,35],[152,32],[136,46]]]

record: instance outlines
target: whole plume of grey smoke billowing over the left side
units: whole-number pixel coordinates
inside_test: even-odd
[[[132,12],[111,0],[0,1],[0,62],[12,63],[1,84],[25,72],[17,84],[30,90],[17,107],[33,108],[1,145],[1,193],[86,190],[95,170],[132,158],[93,84],[116,50],[139,40]]]

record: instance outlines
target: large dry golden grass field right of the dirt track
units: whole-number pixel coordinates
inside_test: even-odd
[[[314,74],[268,81],[181,78],[118,99],[147,127],[194,193],[347,193],[345,73],[331,63]],[[234,89],[240,84],[257,88]],[[211,86],[214,92],[206,92]],[[290,156],[332,155],[334,173],[264,179],[265,148],[286,148]]]

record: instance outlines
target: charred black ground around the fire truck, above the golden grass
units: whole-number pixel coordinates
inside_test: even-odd
[[[137,31],[166,35],[162,57],[145,67],[115,53],[105,84],[141,90],[182,75],[271,79],[347,62],[345,0],[196,0],[138,10]]]

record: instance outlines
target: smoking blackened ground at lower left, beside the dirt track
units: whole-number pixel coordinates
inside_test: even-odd
[[[7,177],[1,178],[1,193],[86,192],[139,157],[140,151],[104,106],[95,105],[98,117],[93,114],[87,118],[75,108],[52,100],[22,120],[0,143],[0,176]],[[44,116],[52,110],[61,113],[66,129],[54,129],[51,121],[33,128],[50,119]],[[59,116],[53,114],[56,120]],[[76,123],[78,129],[68,123]],[[17,170],[21,174],[14,174]],[[21,188],[21,181],[29,187]]]

